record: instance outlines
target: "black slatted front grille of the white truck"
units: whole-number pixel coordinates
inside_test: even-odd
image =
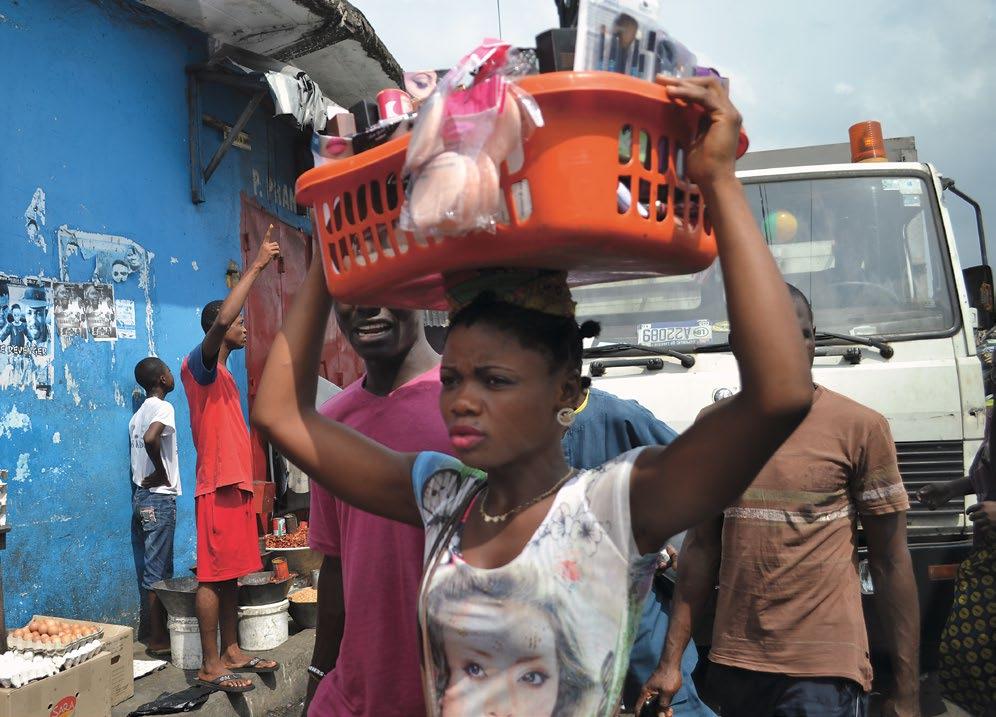
[[[909,441],[896,444],[899,472],[910,498],[908,514],[911,537],[955,536],[963,533],[964,498],[953,498],[937,510],[929,510],[916,499],[916,492],[928,483],[965,476],[961,441]]]

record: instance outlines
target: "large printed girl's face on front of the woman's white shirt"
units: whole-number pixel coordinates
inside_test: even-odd
[[[444,717],[547,717],[557,704],[556,633],[539,608],[472,598],[441,616],[450,680]]]

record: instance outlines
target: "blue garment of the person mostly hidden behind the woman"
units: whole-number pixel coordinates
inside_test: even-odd
[[[626,401],[592,388],[588,391],[587,403],[578,411],[574,423],[564,435],[564,455],[568,465],[584,470],[600,466],[633,448],[666,446],[677,435],[670,426],[636,401]],[[639,697],[640,688],[657,667],[664,650],[668,609],[651,590],[643,605],[643,615],[629,658],[629,672],[623,690],[628,707],[632,707]],[[697,663],[698,651],[690,643],[681,658],[682,687],[674,696],[674,702],[687,701],[677,705],[674,713],[678,716],[715,717],[715,713],[699,699],[692,682],[692,670]]]

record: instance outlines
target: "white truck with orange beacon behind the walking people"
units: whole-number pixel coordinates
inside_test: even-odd
[[[962,499],[928,511],[915,493],[964,476],[981,443],[986,396],[976,331],[992,325],[992,278],[981,214],[983,266],[963,276],[943,201],[953,182],[917,161],[913,138],[886,147],[890,161],[858,164],[848,144],[757,152],[740,161],[738,176],[785,279],[812,302],[815,380],[879,411],[892,428],[910,493],[929,670],[970,528]],[[679,432],[738,390],[718,262],[694,275],[574,295],[579,320],[602,324],[585,359],[597,388],[639,401]],[[867,609],[873,586],[863,585],[874,651],[881,643]]]

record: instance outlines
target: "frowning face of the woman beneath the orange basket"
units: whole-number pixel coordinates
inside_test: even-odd
[[[557,411],[577,404],[577,377],[487,324],[450,330],[439,406],[456,456],[483,470],[559,446]]]

